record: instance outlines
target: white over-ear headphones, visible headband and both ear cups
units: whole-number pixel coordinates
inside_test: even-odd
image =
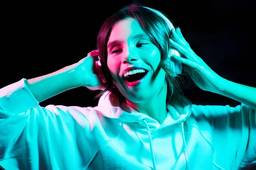
[[[168,20],[168,18],[165,17],[160,11],[157,11],[152,8],[144,7],[144,6],[143,6],[143,8],[147,8],[147,9],[153,11],[154,13],[158,14],[160,17],[162,17],[166,21],[167,25],[169,26],[170,31],[172,30],[172,28],[174,28],[171,21]],[[182,72],[182,65],[181,65],[180,61],[177,61],[172,58],[173,54],[175,54],[178,57],[181,57],[183,55],[176,48],[170,46],[169,53],[167,55],[167,59],[166,59],[166,63],[165,63],[165,67],[169,68],[169,70],[171,70],[171,73],[169,73],[171,76],[177,77],[178,74],[181,74],[181,72]],[[107,80],[105,79],[104,74],[101,69],[101,60],[100,60],[99,55],[98,55],[98,58],[99,58],[99,61],[96,61],[96,68],[98,70],[99,76],[101,77],[102,81],[104,83],[106,83]]]

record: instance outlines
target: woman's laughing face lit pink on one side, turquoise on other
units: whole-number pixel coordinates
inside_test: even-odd
[[[165,71],[160,68],[161,54],[137,20],[126,18],[113,26],[108,40],[107,65],[113,83],[131,102],[143,102],[157,95],[166,83]],[[138,85],[129,85],[123,79],[124,70],[137,66],[148,71]]]

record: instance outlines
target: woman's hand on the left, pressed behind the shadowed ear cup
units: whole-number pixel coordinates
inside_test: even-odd
[[[96,55],[98,55],[98,50],[93,50],[87,54],[87,57],[77,62],[75,75],[79,86],[85,86],[92,91],[104,91],[108,87],[108,83],[104,83],[99,77],[94,59]]]

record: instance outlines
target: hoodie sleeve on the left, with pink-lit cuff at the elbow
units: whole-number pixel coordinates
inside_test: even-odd
[[[43,108],[24,81],[0,89],[0,166],[12,170],[85,167],[94,152],[86,150],[92,140],[88,119],[97,122],[96,114],[80,107]]]

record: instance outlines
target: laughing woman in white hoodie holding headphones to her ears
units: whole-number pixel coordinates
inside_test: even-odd
[[[180,29],[169,26],[151,8],[126,6],[102,25],[99,51],[52,74],[2,88],[0,165],[77,170],[253,166],[256,89],[218,76]],[[180,63],[199,88],[241,105],[192,105],[177,83]],[[39,105],[80,86],[103,91],[98,106]]]

